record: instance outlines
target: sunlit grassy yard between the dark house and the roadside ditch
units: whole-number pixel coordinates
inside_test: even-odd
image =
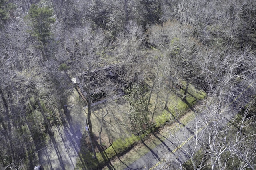
[[[184,89],[173,89],[168,94],[168,99],[166,99],[166,93],[163,91],[153,92],[150,100],[152,104],[150,106],[150,110],[152,111],[150,121],[152,120],[153,123],[156,123],[157,127],[160,127],[166,121],[172,121],[174,117],[180,119],[186,113],[186,109],[204,97],[204,93],[197,91],[192,85],[189,86],[186,103],[182,101],[183,93]],[[164,108],[166,100],[168,100],[169,111]],[[83,166],[86,166],[86,168],[95,168],[99,164],[108,162],[114,156],[127,152],[134,144],[136,145],[137,142],[140,142],[138,136],[132,134],[125,128],[125,124],[128,123],[125,120],[125,113],[128,112],[128,106],[129,103],[122,97],[110,99],[105,103],[94,106],[91,120],[94,132],[94,148],[98,152],[96,154],[97,160],[92,159],[92,150],[88,135],[83,133],[82,152],[80,153],[82,159],[78,159],[76,168],[82,169]],[[86,116],[87,108],[83,107],[81,112]],[[100,146],[100,139],[102,146]],[[86,164],[89,162],[90,164]]]

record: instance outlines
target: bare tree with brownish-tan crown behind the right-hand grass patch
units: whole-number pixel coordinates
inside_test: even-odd
[[[151,48],[159,51],[157,60],[162,62],[160,68],[164,74],[162,80],[165,87],[169,92],[175,86],[181,89],[182,80],[186,81],[184,101],[189,83],[200,74],[199,64],[195,60],[200,43],[190,37],[190,33],[189,25],[181,25],[176,21],[168,21],[163,26],[155,25],[148,29]]]

